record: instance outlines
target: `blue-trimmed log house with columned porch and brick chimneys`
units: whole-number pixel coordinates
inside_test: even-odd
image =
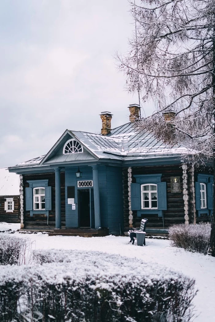
[[[20,174],[22,229],[119,234],[147,217],[148,233],[166,233],[172,223],[211,220],[210,167],[185,163],[187,143],[158,141],[137,127],[139,105],[129,110],[120,127],[102,112],[101,134],[66,130],[46,155],[9,168]]]

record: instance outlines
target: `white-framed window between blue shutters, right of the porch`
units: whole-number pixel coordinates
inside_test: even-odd
[[[141,209],[158,209],[157,185],[141,185]]]

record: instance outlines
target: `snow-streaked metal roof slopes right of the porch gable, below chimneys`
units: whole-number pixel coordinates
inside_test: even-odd
[[[71,131],[79,141],[99,158],[144,159],[150,156],[179,155],[189,150],[183,144],[170,147],[151,132],[140,130],[133,122],[114,128],[108,136]]]

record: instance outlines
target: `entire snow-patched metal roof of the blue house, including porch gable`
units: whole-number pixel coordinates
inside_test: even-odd
[[[134,122],[112,129],[111,133],[107,136],[72,130],[66,130],[64,135],[65,133],[77,139],[86,149],[86,152],[66,155],[55,154],[54,151],[58,145],[56,143],[46,156],[39,156],[20,163],[18,166],[37,167],[61,162],[92,161],[93,158],[121,161],[145,160],[170,155],[180,156],[189,153],[188,142],[170,147],[161,140],[156,139],[152,132],[140,130]],[[61,139],[58,142],[60,141]]]

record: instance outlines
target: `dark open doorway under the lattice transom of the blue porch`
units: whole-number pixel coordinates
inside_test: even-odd
[[[79,227],[90,227],[90,189],[78,190]]]

